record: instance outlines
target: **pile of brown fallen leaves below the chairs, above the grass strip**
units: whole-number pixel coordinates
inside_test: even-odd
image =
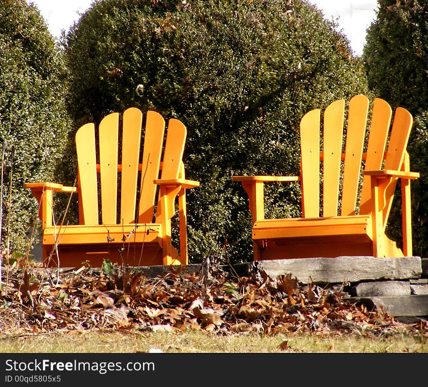
[[[9,335],[106,328],[220,334],[406,330],[427,335],[427,321],[399,323],[382,310],[346,301],[344,294],[340,288],[303,285],[291,275],[270,278],[260,269],[238,276],[233,270],[189,274],[178,267],[148,278],[142,271],[123,267],[107,273],[87,267],[14,268],[3,270],[0,331]]]

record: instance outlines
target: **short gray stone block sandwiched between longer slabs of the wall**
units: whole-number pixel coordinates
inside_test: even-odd
[[[428,288],[428,286],[427,286]],[[359,297],[370,296],[410,296],[409,281],[373,281],[361,282],[353,288],[353,294]]]

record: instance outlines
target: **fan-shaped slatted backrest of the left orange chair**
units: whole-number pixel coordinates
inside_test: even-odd
[[[81,224],[100,224],[98,214],[100,197],[101,222],[106,226],[130,224],[135,221],[139,223],[154,221],[158,192],[158,185],[154,180],[160,177],[178,178],[182,174],[186,127],[179,120],[170,119],[168,133],[164,140],[165,120],[159,113],[148,111],[145,119],[142,152],[142,124],[143,114],[139,109],[125,110],[122,141],[119,141],[119,114],[112,113],[105,116],[99,125],[98,165],[94,124],[83,125],[77,131],[75,139],[79,178],[79,221]],[[122,160],[118,165],[118,151],[121,142]],[[164,149],[163,154],[162,149]],[[118,198],[119,172],[121,173],[120,198]],[[100,196],[98,190],[101,191]],[[118,200],[120,200],[119,215]]]

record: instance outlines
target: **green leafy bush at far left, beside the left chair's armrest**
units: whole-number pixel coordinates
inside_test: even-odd
[[[64,144],[64,64],[34,6],[0,3],[1,244],[9,241],[11,251],[26,251],[25,232],[37,218],[36,200],[23,184],[53,178]]]

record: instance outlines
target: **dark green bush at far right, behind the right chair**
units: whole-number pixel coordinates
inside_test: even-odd
[[[367,31],[363,59],[369,86],[393,107],[414,117],[409,140],[410,168],[421,177],[412,182],[413,253],[428,254],[428,3],[379,0]],[[394,215],[394,214],[393,214]],[[397,216],[397,212],[395,212]],[[398,224],[398,219],[397,222]],[[397,228],[392,233],[399,235]]]

